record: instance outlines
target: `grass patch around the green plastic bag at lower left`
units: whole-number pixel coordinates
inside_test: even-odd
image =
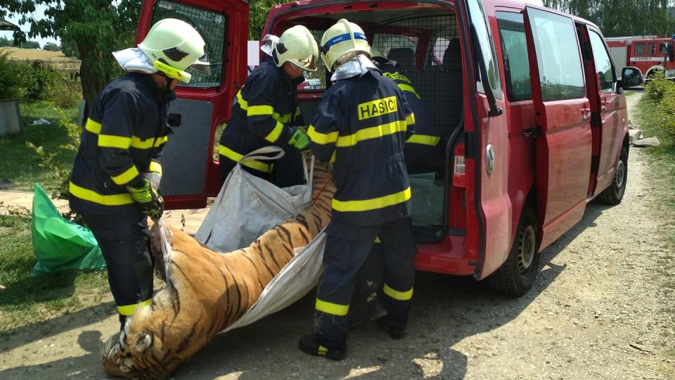
[[[0,215],[0,336],[100,303],[109,293],[105,271],[29,277],[35,265],[30,217]]]

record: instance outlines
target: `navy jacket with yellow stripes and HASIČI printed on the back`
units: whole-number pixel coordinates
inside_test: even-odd
[[[378,70],[326,91],[308,134],[316,158],[333,162],[333,220],[372,226],[410,216],[403,150],[414,124],[403,92]]]

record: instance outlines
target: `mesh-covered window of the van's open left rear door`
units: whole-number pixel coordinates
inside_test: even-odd
[[[225,31],[227,30],[225,15],[174,1],[160,0],[155,4],[151,25],[155,25],[159,20],[165,18],[177,18],[195,27],[206,42],[206,53],[211,65],[211,74],[207,75],[195,70],[188,70],[192,75],[190,83],[179,82],[178,85],[200,88],[219,87],[223,82],[222,75],[225,66],[223,60],[226,42]]]

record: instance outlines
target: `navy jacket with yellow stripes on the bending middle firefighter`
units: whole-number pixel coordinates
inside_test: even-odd
[[[220,137],[221,159],[238,161],[257,148],[288,147],[293,125],[303,125],[295,96],[303,77],[291,80],[272,61],[263,61],[249,75],[232,103],[232,116]],[[259,170],[267,164],[252,166]]]

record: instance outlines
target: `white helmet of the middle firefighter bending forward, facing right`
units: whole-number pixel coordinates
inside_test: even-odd
[[[278,67],[284,62],[293,63],[307,71],[316,71],[319,46],[309,29],[295,25],[281,33],[277,42],[272,43],[272,60]]]

